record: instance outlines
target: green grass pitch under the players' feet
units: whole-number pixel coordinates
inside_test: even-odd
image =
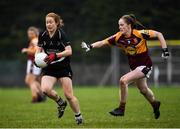
[[[63,95],[62,89],[56,90]],[[129,88],[125,116],[113,117],[108,112],[119,104],[118,87],[77,87],[74,92],[85,119],[84,124],[78,126],[69,105],[63,118],[58,119],[56,104],[50,99],[31,104],[27,88],[0,89],[0,128],[180,128],[180,88],[152,90],[162,103],[158,120],[137,88]]]

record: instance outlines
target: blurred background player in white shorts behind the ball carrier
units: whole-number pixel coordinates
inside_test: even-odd
[[[36,67],[33,63],[38,43],[39,30],[36,27],[29,27],[27,35],[29,38],[29,46],[22,49],[22,53],[26,53],[28,56],[25,82],[31,89],[32,103],[36,103],[45,100],[38,80],[38,77],[41,74],[41,69]]]

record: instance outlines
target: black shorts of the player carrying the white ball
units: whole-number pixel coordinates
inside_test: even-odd
[[[73,77],[73,72],[71,70],[71,67],[64,67],[64,68],[55,68],[55,69],[48,69],[45,68],[42,71],[43,76],[47,75],[47,76],[52,76],[52,77],[56,77],[58,78],[62,78],[62,77],[69,77],[70,79],[72,79]]]

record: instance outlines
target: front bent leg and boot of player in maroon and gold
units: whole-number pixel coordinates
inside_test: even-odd
[[[120,104],[119,107],[110,112],[114,116],[124,116],[125,105],[128,97],[128,85],[137,79],[143,78],[145,75],[139,69],[135,69],[120,78]]]

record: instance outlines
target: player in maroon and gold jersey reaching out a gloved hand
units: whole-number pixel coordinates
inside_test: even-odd
[[[119,32],[115,35],[92,44],[82,42],[81,47],[87,51],[92,48],[100,48],[105,45],[117,46],[126,53],[131,71],[122,76],[119,80],[120,85],[120,104],[110,112],[113,116],[124,116],[125,105],[128,96],[128,85],[136,83],[140,92],[151,104],[155,119],[160,116],[160,101],[156,100],[153,92],[147,85],[147,78],[149,78],[152,71],[152,61],[148,54],[146,40],[149,38],[158,38],[162,47],[162,58],[167,58],[169,52],[166,41],[162,33],[154,30],[137,30],[137,25],[142,26],[134,15],[124,15],[119,21]]]

